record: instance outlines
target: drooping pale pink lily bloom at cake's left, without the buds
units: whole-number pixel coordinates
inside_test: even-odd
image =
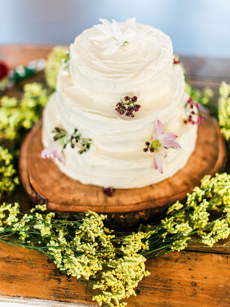
[[[51,144],[47,146],[44,150],[41,152],[41,157],[43,159],[49,159],[52,158],[53,161],[57,158],[60,162],[64,163],[62,150],[63,150],[63,138],[60,138]]]

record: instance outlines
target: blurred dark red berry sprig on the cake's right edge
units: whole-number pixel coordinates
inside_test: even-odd
[[[186,119],[184,123],[192,123],[199,125],[203,120],[204,116],[199,113],[198,109],[201,107],[200,103],[196,103],[191,97],[187,100],[185,104],[185,114]]]

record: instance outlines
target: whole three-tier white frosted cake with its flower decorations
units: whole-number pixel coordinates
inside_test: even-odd
[[[135,18],[100,21],[70,45],[44,109],[42,157],[82,184],[152,185],[186,165],[199,105],[169,36]]]

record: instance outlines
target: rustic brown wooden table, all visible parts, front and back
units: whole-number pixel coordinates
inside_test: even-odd
[[[14,67],[46,58],[50,48],[0,46],[0,59]],[[230,60],[186,56],[180,56],[180,59],[186,69],[187,81],[196,88],[213,88],[217,103],[220,82],[230,81]],[[21,95],[22,84],[34,80],[43,81],[43,74],[23,81],[11,95]],[[17,195],[21,207],[28,209],[30,202],[21,187]],[[217,245],[171,252],[148,259],[146,269],[151,275],[139,283],[140,294],[127,300],[128,307],[230,306],[230,248]],[[44,306],[95,306],[85,288],[75,278],[61,274],[46,257],[5,243],[0,243],[0,301]]]

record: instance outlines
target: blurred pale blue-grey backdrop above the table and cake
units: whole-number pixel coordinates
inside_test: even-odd
[[[0,0],[0,44],[70,44],[99,18],[136,17],[181,55],[230,57],[230,0]]]

